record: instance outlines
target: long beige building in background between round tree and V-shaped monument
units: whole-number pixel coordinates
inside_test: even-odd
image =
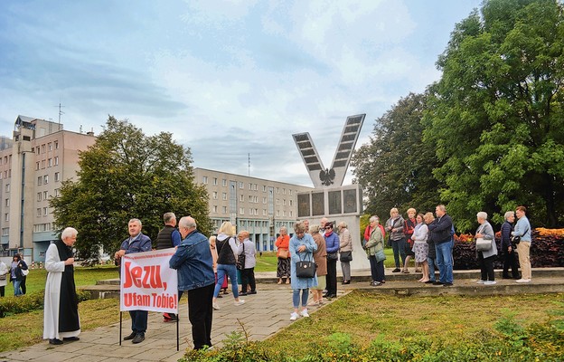
[[[274,250],[281,226],[286,226],[288,233],[294,233],[296,195],[312,190],[312,187],[205,168],[194,168],[194,176],[210,195],[210,218],[214,232],[223,222],[229,221],[238,231],[249,231],[257,251]]]

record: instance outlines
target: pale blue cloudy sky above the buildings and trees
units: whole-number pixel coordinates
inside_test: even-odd
[[[374,119],[440,76],[481,0],[0,1],[0,135],[19,114],[172,132],[194,167],[311,186],[291,135],[330,167],[347,116]],[[350,174],[350,172],[349,172]],[[345,179],[350,183],[351,176]]]

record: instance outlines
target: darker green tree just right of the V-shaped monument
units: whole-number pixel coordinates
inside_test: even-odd
[[[410,93],[380,119],[371,141],[353,155],[354,176],[368,198],[366,210],[385,221],[390,208],[434,211],[438,201],[435,148],[422,141],[424,94]]]

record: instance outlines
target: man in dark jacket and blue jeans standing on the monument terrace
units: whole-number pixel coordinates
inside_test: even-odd
[[[452,219],[447,215],[445,205],[437,205],[435,208],[437,219],[428,225],[429,238],[435,243],[437,252],[437,265],[439,272],[439,281],[435,281],[433,285],[443,285],[450,287],[453,285],[453,260],[452,260],[452,235],[453,227]]]

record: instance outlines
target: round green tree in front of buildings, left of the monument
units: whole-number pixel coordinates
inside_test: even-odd
[[[127,222],[139,218],[155,241],[163,214],[192,215],[202,233],[211,231],[208,195],[193,180],[192,157],[162,132],[147,137],[141,129],[113,117],[87,151],[80,153],[78,180],[62,183],[52,198],[55,224],[73,226],[80,257],[96,261],[99,247],[115,252],[127,237]]]

